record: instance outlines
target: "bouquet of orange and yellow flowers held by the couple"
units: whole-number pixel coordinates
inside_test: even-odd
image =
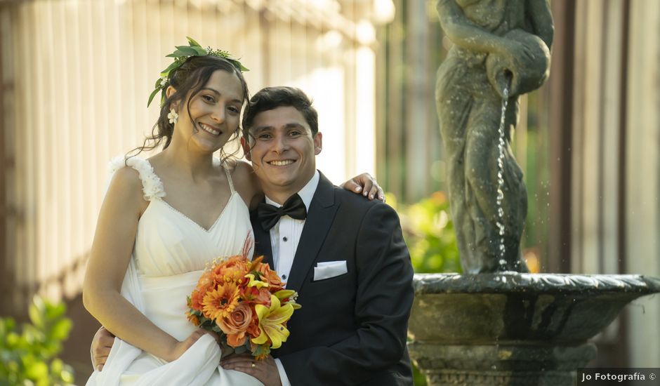
[[[251,244],[246,239],[242,255],[216,258],[204,269],[187,297],[186,314],[195,326],[218,333],[235,352],[265,359],[271,348],[286,342],[286,322],[301,305],[298,293],[285,290],[277,273],[261,262],[263,256],[249,260]]]

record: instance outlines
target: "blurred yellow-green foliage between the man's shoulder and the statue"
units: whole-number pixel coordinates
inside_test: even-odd
[[[415,272],[461,272],[449,202],[443,192],[409,206],[397,205],[391,194],[386,200],[400,215]]]

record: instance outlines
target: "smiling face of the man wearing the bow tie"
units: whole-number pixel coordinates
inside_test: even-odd
[[[286,199],[309,182],[316,171],[322,135],[312,136],[305,117],[295,107],[256,114],[250,134],[251,147],[244,143],[244,152],[268,197]]]

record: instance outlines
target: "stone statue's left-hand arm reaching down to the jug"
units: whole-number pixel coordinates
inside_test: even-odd
[[[457,46],[482,53],[506,51],[508,41],[471,22],[456,0],[438,0],[435,8],[444,33]]]

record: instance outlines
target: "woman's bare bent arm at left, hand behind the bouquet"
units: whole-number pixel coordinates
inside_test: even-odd
[[[83,284],[83,302],[108,331],[146,352],[171,361],[180,357],[202,332],[179,342],[155,326],[121,294],[138,220],[147,206],[142,183],[132,168],[115,173],[98,217]]]

